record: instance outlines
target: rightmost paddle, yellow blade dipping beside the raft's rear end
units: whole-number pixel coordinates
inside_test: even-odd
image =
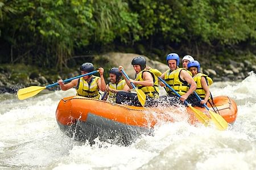
[[[194,91],[194,94],[196,95],[196,98],[199,101],[202,101],[202,99],[199,97],[199,95],[197,95],[197,93],[195,91]],[[203,105],[209,111],[210,118],[212,118],[212,120],[213,120],[214,124],[217,126],[217,128],[219,130],[226,130],[226,128],[228,128],[228,122],[226,122],[226,120],[220,114],[210,111],[210,109],[208,108],[208,106],[205,103]]]

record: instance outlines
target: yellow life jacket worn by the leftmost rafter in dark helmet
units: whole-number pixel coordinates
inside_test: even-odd
[[[98,79],[100,79],[100,77],[92,75],[90,82],[86,82],[86,80],[81,77],[77,82],[76,95],[100,99],[101,95],[97,84]]]

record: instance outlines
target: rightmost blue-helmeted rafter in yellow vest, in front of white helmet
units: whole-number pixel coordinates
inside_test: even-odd
[[[201,102],[197,100],[196,105],[203,107],[203,104],[207,104],[209,100],[209,86],[213,83],[212,79],[208,75],[200,73],[200,63],[196,60],[188,63],[188,69],[191,71],[197,85],[195,92],[202,99]]]

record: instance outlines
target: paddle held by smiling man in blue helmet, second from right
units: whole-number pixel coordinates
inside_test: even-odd
[[[169,84],[167,84],[162,78],[158,77],[158,79],[163,82],[168,88],[170,88],[173,92],[175,92],[175,94],[178,97],[181,97]],[[202,124],[204,124],[205,126],[208,125],[209,122],[209,117],[207,117],[203,112],[199,111],[196,108],[193,108],[191,104],[188,104],[188,102],[186,100],[184,100],[185,105],[187,105],[189,108],[192,109],[192,111],[195,113],[195,116],[197,118],[197,120],[199,120]]]

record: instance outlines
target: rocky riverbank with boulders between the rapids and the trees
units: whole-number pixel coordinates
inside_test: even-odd
[[[122,65],[130,78],[134,78],[133,67],[131,60],[139,54],[132,53],[106,53],[94,57],[94,65],[102,66],[105,69],[105,78],[108,81],[108,70],[111,67]],[[180,58],[181,59],[181,58]],[[197,59],[197,58],[196,58]],[[253,61],[256,60],[256,57]],[[104,61],[104,62],[99,62]],[[218,81],[241,81],[248,76],[248,73],[254,71],[256,73],[255,62],[247,59],[238,62],[227,59],[225,62],[212,62],[207,59],[201,59],[201,72],[209,75],[215,82]],[[147,58],[147,65],[166,71],[168,66],[166,63],[153,61]],[[48,84],[55,83],[58,79],[67,79],[80,74],[79,66],[64,69],[59,73],[54,69],[39,68],[35,66],[18,65],[0,65],[0,94],[9,92],[16,93],[19,88],[29,86],[47,86]],[[56,90],[53,87],[51,90]]]

